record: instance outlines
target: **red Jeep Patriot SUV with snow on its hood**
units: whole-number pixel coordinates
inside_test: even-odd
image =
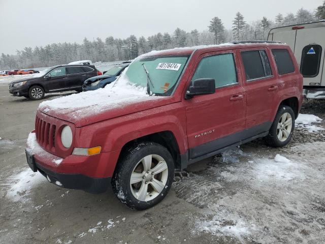
[[[27,162],[60,187],[146,209],[171,188],[174,168],[259,137],[293,134],[302,76],[287,45],[233,42],[152,51],[109,87],[45,101]]]

